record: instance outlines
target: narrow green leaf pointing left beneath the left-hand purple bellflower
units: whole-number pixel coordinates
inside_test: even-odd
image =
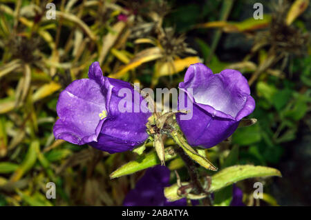
[[[165,161],[169,161],[176,157],[176,153],[173,151],[173,148],[165,148]],[[147,168],[151,168],[152,166],[156,166],[160,164],[160,159],[156,151],[151,151],[146,155],[138,157],[135,161],[130,161],[129,163],[124,164],[114,172],[110,174],[110,178],[114,179],[117,177],[122,177],[124,175],[129,175],[134,172],[138,172],[140,170],[144,170]]]

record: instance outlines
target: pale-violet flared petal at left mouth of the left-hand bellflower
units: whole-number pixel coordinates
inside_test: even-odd
[[[106,98],[100,86],[91,79],[79,79],[59,94],[53,128],[56,139],[82,145],[97,141],[102,124],[99,114],[106,111]]]

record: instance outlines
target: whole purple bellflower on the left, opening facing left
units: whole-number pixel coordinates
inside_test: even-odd
[[[131,84],[104,77],[98,62],[90,66],[88,78],[73,81],[59,94],[59,119],[53,128],[55,138],[77,145],[88,143],[109,153],[132,150],[144,143],[148,138],[146,123],[151,113],[120,112],[118,108],[122,99],[132,99],[128,101],[134,109],[144,98],[140,96],[140,103],[134,102],[136,91]],[[130,89],[132,97],[119,96],[122,88]]]

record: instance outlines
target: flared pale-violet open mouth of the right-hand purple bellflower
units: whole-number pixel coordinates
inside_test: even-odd
[[[195,103],[216,117],[236,119],[239,112],[245,108],[250,91],[247,79],[236,70],[223,70],[213,74],[202,63],[191,65],[186,74],[185,81],[179,88],[187,92],[193,89]],[[243,114],[250,114],[255,106],[249,103]],[[241,114],[242,115],[242,114]]]

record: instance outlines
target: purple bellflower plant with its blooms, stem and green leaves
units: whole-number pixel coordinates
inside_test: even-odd
[[[171,109],[164,108],[159,99],[162,94],[157,94],[155,103],[153,90],[140,90],[136,84],[104,77],[100,63],[92,63],[88,79],[73,81],[59,94],[55,138],[109,153],[133,150],[139,154],[138,159],[110,175],[113,179],[150,168],[129,190],[124,206],[185,206],[190,201],[196,205],[198,200],[201,205],[211,206],[211,194],[215,192],[218,197],[218,190],[236,181],[281,175],[279,170],[263,166],[234,166],[236,161],[232,159],[236,156],[228,156],[231,161],[224,167],[213,158],[213,163],[223,169],[213,176],[199,175],[198,165],[218,170],[205,148],[224,141],[238,127],[256,123],[256,119],[243,119],[253,112],[255,101],[241,72],[223,70],[213,74],[202,63],[189,66],[178,88],[179,96],[176,88],[165,89],[176,100],[172,100]],[[164,167],[171,159],[174,161],[169,168]],[[177,170],[183,166],[189,178],[179,177]],[[171,170],[175,170],[174,175]],[[229,193],[233,194],[232,205],[244,205],[241,189],[234,186]]]

